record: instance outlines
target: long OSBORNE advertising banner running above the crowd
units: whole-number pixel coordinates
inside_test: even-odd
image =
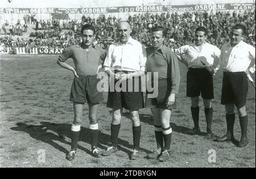
[[[0,8],[0,14],[107,14],[116,12],[177,12],[209,10],[255,10],[255,3],[220,3],[212,5],[121,6],[85,8]]]

